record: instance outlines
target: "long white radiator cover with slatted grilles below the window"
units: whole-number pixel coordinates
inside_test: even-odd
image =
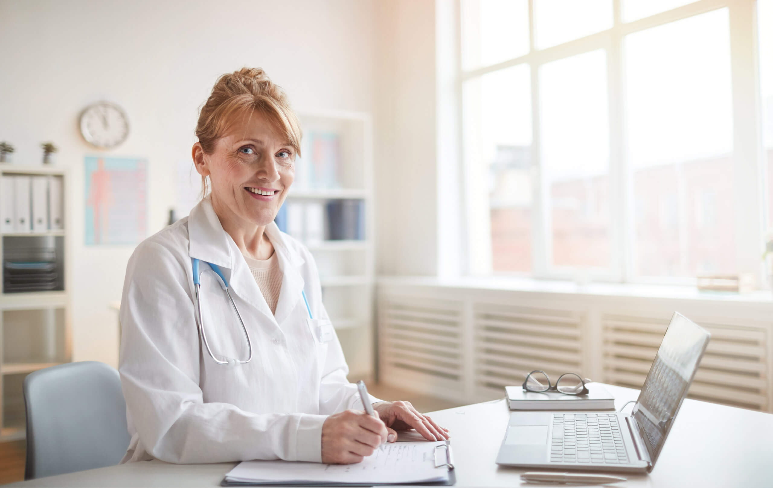
[[[674,311],[712,334],[690,398],[773,412],[773,303],[483,290],[382,280],[379,379],[461,403],[540,369],[640,388]]]

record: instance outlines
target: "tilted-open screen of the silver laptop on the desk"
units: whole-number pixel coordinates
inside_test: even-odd
[[[687,396],[709,337],[711,334],[707,330],[680,313],[671,317],[633,408],[639,434],[647,446],[653,466],[669,435],[676,412],[679,412]]]

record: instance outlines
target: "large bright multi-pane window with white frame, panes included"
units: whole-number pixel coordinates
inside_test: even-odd
[[[773,0],[460,2],[472,273],[758,271]]]

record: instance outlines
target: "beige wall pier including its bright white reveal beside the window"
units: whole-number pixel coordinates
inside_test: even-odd
[[[377,4],[378,273],[465,271],[457,0]]]

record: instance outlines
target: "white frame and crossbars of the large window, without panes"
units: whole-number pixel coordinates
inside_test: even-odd
[[[461,2],[457,0],[458,12]],[[659,25],[688,19],[695,15],[728,9],[730,28],[730,77],[733,104],[733,147],[730,155],[734,159],[736,174],[736,264],[739,273],[754,273],[759,283],[764,283],[762,263],[759,256],[764,249],[764,235],[767,219],[767,198],[764,188],[766,169],[764,165],[764,141],[762,141],[762,114],[760,94],[760,71],[757,36],[756,0],[700,0],[682,5],[666,12],[650,15],[632,22],[622,22],[622,0],[612,0],[613,22],[610,29],[590,36],[564,42],[545,49],[536,49],[534,39],[534,0],[529,5],[529,52],[523,56],[508,59],[502,63],[462,69],[461,49],[458,63],[458,100],[463,100],[462,91],[466,81],[493,73],[500,69],[525,64],[530,69],[532,100],[532,271],[531,273],[494,273],[491,259],[477,255],[491,254],[491,233],[487,236],[468,237],[468,272],[472,275],[531,276],[557,280],[594,280],[621,283],[682,284],[695,285],[696,278],[641,276],[635,273],[635,205],[633,173],[625,157],[625,59],[623,45],[625,36]],[[457,19],[458,43],[461,46],[461,18]],[[609,215],[611,263],[608,269],[554,266],[552,256],[552,222],[550,219],[550,195],[544,178],[540,158],[540,66],[559,59],[602,49],[607,59],[608,85],[608,131],[609,131]],[[464,114],[458,112],[459,127],[464,125]],[[462,145],[465,138],[461,137]],[[464,148],[462,148],[462,154]],[[465,175],[469,175],[467,161],[463,158]],[[472,232],[481,205],[475,205],[472,198],[465,198],[465,229]],[[488,204],[485,205],[488,208]],[[753,211],[747,212],[749,208]],[[476,215],[475,212],[478,212]],[[488,246],[488,250],[482,249]]]

